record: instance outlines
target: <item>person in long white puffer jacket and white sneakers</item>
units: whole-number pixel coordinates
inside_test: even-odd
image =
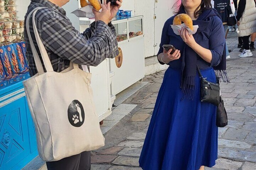
[[[240,57],[251,57],[249,37],[256,32],[256,7],[254,0],[240,0],[237,9],[238,37],[242,37],[243,48]]]

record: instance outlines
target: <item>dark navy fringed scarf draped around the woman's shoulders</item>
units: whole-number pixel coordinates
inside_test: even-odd
[[[184,9],[181,9],[180,13],[185,13]],[[206,27],[209,27],[211,20],[208,20],[208,18],[215,15],[220,18],[215,9],[207,9],[202,12],[197,20],[193,21],[194,25],[199,26],[197,32],[193,35],[195,40],[197,40],[197,36],[200,32],[202,32]],[[181,89],[184,93],[184,97],[192,100],[194,97],[195,76],[197,75],[197,57],[198,54],[188,45],[185,45],[181,57]],[[214,66],[213,69],[215,70],[216,76],[220,77],[223,82],[229,82],[226,72],[226,46],[224,46],[221,62],[218,66]]]

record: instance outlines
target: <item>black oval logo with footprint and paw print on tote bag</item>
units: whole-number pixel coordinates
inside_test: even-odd
[[[68,108],[68,119],[72,126],[80,127],[85,122],[85,111],[78,100],[73,100]]]

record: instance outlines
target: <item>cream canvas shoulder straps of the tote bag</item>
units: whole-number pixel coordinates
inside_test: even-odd
[[[41,73],[44,73],[43,65],[40,61],[39,55],[37,53],[37,50],[35,48],[34,42],[32,40],[31,34],[30,34],[30,30],[29,30],[29,18],[33,14],[32,15],[32,23],[33,23],[34,34],[35,34],[35,38],[36,38],[36,41],[37,41],[37,45],[38,45],[40,54],[42,56],[42,60],[43,60],[44,66],[45,66],[45,70],[46,70],[46,72],[53,72],[53,66],[51,64],[50,58],[47,54],[47,51],[46,51],[46,49],[43,45],[43,42],[42,42],[42,40],[39,36],[37,26],[36,26],[36,22],[35,22],[35,15],[36,15],[37,11],[40,10],[40,9],[43,9],[43,7],[37,7],[35,9],[33,9],[30,12],[30,14],[28,14],[27,20],[26,20],[27,34],[28,34],[28,37],[29,37],[29,42],[30,42],[30,46],[31,46],[32,53],[33,53],[33,56],[34,56],[37,71],[41,72]],[[72,62],[70,62],[70,66],[73,67],[73,68],[78,68],[78,64],[75,64],[75,63],[72,63]]]

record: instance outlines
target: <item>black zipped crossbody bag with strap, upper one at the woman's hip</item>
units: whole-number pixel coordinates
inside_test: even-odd
[[[203,78],[198,66],[197,71],[201,79],[201,101],[214,104],[215,106],[219,106],[219,83],[209,82],[206,80],[206,78]]]

